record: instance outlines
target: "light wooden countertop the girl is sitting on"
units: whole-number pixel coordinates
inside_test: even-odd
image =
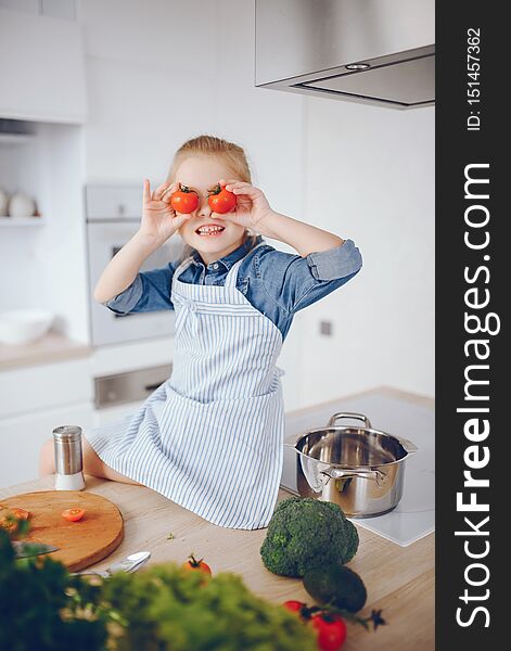
[[[433,403],[395,390],[378,391],[420,404]],[[53,477],[0,489],[0,499],[49,489],[53,489]],[[259,548],[266,529],[216,526],[145,487],[87,477],[87,490],[115,502],[125,519],[123,542],[95,569],[102,570],[115,560],[142,549],[151,551],[151,563],[181,563],[193,551],[207,560],[214,573],[239,573],[250,589],[272,602],[297,599],[312,603],[301,579],[277,576],[263,565]],[[279,501],[289,495],[281,489]],[[349,567],[360,574],[368,590],[368,601],[361,614],[383,609],[388,625],[374,634],[348,624],[348,639],[343,650],[431,651],[434,648],[434,535],[409,547],[399,547],[360,526],[357,529],[360,546]],[[170,532],[175,539],[167,540]]]

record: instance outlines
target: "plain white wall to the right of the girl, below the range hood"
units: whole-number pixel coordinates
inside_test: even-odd
[[[380,384],[433,396],[434,108],[307,98],[305,152],[306,220],[355,240],[363,267],[304,311],[304,403]]]

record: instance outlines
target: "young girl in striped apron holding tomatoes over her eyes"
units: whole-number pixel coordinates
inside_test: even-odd
[[[170,205],[180,184],[199,197],[192,214]],[[228,214],[209,207],[218,184],[237,196]],[[139,272],[176,232],[189,245],[183,259]],[[240,146],[186,142],[165,183],[151,192],[144,181],[140,229],[94,291],[118,314],[176,311],[173,373],[135,413],[86,434],[85,472],[149,486],[217,525],[266,527],[282,472],[282,342],[297,310],[360,267],[350,240],[272,210]],[[54,472],[51,455],[48,442],[41,474]]]

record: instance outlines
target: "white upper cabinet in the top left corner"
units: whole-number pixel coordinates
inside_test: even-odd
[[[82,124],[86,110],[79,24],[0,8],[0,117]]]

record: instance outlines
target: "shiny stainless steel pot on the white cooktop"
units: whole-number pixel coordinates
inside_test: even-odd
[[[337,425],[341,419],[363,427]],[[309,430],[294,445],[302,497],[337,503],[349,518],[371,518],[394,509],[403,496],[405,461],[413,443],[374,430],[361,413],[334,413],[325,427]]]

